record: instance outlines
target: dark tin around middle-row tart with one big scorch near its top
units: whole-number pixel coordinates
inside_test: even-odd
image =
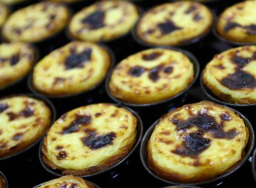
[[[116,58],[115,58],[115,55],[114,55],[114,52],[112,52],[112,50],[103,45],[103,44],[98,44],[100,47],[102,47],[103,49],[105,49],[107,51],[107,53],[110,55],[110,58],[111,58],[111,64],[110,64],[110,67],[109,67],[109,72],[112,71],[112,68],[115,64],[115,61],[116,61]],[[86,90],[86,91],[82,91],[80,93],[76,93],[76,94],[64,94],[64,95],[59,95],[59,96],[55,96],[55,95],[48,95],[48,94],[43,94],[39,91],[37,91],[33,85],[32,85],[32,78],[33,78],[33,70],[34,68],[31,70],[31,72],[29,73],[28,75],[28,78],[27,78],[27,86],[28,86],[28,89],[33,93],[33,94],[36,94],[38,96],[43,96],[43,97],[46,97],[46,98],[49,98],[49,99],[64,99],[64,98],[71,98],[71,97],[76,97],[76,96],[81,96],[83,94],[92,94],[93,91],[95,91],[96,89],[98,89],[102,84],[104,84],[104,81],[107,77],[103,78],[101,80],[101,82],[99,82],[98,84],[96,84],[95,86],[91,87],[90,89]]]

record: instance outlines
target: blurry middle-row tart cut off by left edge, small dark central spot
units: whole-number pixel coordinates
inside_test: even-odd
[[[36,61],[32,46],[20,42],[0,44],[0,88],[24,77]]]

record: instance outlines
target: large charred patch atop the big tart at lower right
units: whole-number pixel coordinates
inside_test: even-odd
[[[182,145],[177,146],[172,152],[183,157],[197,157],[211,145],[211,140],[204,138],[205,132],[210,132],[214,138],[234,139],[238,135],[236,130],[224,131],[224,124],[217,123],[215,118],[204,113],[203,115],[194,115],[187,120],[178,120],[173,118],[171,122],[176,125],[177,131],[186,131],[192,127],[198,130],[188,134],[182,140]]]

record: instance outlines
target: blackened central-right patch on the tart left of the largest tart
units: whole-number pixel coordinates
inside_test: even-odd
[[[92,150],[96,150],[112,144],[115,138],[116,134],[114,132],[110,132],[105,135],[96,135],[96,131],[93,131],[89,136],[83,137],[81,141],[85,146]]]

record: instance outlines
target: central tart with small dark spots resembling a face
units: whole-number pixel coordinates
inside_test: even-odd
[[[186,55],[170,49],[152,48],[118,63],[108,87],[117,99],[147,104],[179,94],[193,79],[193,64]]]

